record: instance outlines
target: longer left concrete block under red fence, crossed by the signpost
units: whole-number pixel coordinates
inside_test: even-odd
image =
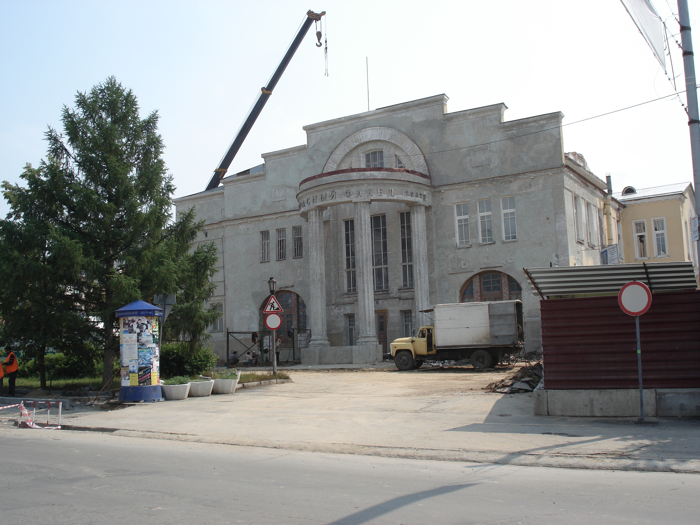
[[[619,390],[548,390],[547,414],[550,416],[608,416],[639,415],[639,391]],[[644,391],[645,416],[657,415],[656,390]]]

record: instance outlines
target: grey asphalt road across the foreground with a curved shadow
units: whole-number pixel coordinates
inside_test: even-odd
[[[697,524],[700,475],[0,429],[7,524]]]

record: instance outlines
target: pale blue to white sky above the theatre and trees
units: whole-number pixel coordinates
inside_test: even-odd
[[[366,111],[365,57],[372,109],[445,93],[448,111],[505,102],[506,120],[561,111],[566,124],[673,93],[617,0],[314,2],[0,3],[0,179],[18,182],[62,106],[114,75],[144,115],[158,110],[176,196],[203,190],[309,8],[328,13],[330,76],[309,31],[231,172],[304,144],[303,125]],[[674,3],[654,5],[677,33]],[[689,8],[694,22],[700,0]],[[678,100],[567,126],[564,140],[616,191],[692,180]]]

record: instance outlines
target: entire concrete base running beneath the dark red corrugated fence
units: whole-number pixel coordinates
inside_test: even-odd
[[[639,416],[639,391],[535,390],[536,416]],[[645,388],[645,416],[700,416],[700,388]]]

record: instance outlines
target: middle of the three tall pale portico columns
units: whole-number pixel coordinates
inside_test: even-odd
[[[360,337],[357,344],[379,344],[374,323],[374,279],[372,279],[372,238],[370,202],[355,203],[355,267]]]

